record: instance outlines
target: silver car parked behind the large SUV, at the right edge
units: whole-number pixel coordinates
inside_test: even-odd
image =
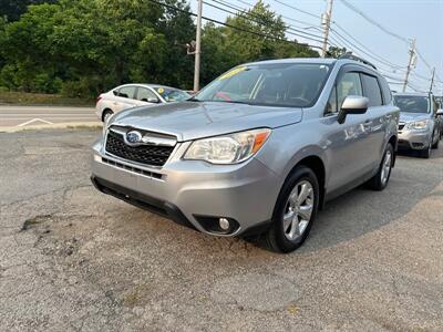
[[[400,108],[399,148],[419,151],[424,158],[439,147],[441,127],[437,104],[430,93],[395,93]],[[441,112],[440,112],[441,113]]]

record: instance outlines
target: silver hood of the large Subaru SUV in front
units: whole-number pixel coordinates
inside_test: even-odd
[[[126,110],[113,116],[110,124],[169,134],[181,142],[258,127],[275,128],[300,122],[301,115],[301,108],[182,102]]]

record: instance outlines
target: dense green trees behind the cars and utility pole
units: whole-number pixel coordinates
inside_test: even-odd
[[[195,39],[195,25],[186,0],[165,0],[183,11],[148,0],[27,3],[33,2],[54,3],[21,9],[13,22],[0,18],[0,85],[71,97],[95,96],[127,82],[192,86],[194,56],[186,54],[185,45]],[[308,46],[287,41],[285,22],[262,1],[227,23],[244,31],[204,27],[204,84],[243,62],[318,56]]]

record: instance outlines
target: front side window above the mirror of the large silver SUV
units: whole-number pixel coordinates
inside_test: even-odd
[[[338,112],[348,95],[363,95],[359,73],[344,73],[339,79],[329,97],[327,113]]]

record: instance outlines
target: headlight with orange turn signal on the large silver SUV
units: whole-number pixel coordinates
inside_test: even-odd
[[[184,159],[212,164],[235,164],[254,156],[268,139],[270,129],[261,128],[193,142]]]

